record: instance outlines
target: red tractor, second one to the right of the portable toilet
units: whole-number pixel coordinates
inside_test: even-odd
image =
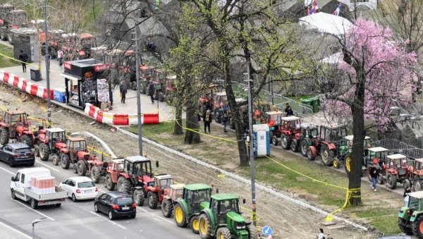
[[[276,140],[278,137],[281,138],[281,146],[283,149],[289,149],[291,142],[298,145],[298,140],[295,140],[295,135],[300,135],[300,125],[301,120],[297,116],[281,117],[281,124],[278,125]]]

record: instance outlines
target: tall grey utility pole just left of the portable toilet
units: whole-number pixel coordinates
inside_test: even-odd
[[[254,134],[252,133],[252,96],[250,80],[250,63],[247,62],[247,82],[248,82],[248,124],[250,125],[250,178],[251,178],[251,209],[252,223],[257,226],[256,200],[255,200],[255,161],[254,161]]]

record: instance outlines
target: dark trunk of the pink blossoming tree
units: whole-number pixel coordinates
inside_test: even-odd
[[[357,73],[357,83],[355,85],[355,99],[351,105],[351,113],[353,114],[353,152],[351,154],[350,171],[348,172],[348,189],[351,190],[350,205],[360,206],[361,200],[361,177],[362,177],[362,156],[363,156],[363,142],[364,142],[364,87],[365,78],[364,69],[361,67],[355,68]]]

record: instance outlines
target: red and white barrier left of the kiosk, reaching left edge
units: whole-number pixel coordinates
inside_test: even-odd
[[[47,89],[45,87],[34,84],[19,75],[8,73],[0,70],[0,81],[8,85],[16,87],[36,97],[47,99]],[[54,98],[54,90],[50,90],[50,99]]]

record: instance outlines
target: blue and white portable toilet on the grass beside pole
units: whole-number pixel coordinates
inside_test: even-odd
[[[252,125],[254,133],[254,156],[262,157],[270,155],[270,130],[269,125]]]

